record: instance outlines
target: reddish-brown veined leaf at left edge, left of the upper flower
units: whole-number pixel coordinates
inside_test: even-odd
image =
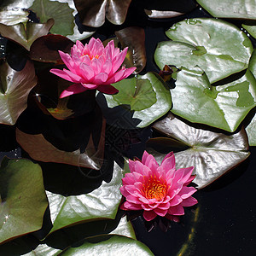
[[[27,96],[37,84],[31,61],[21,71],[15,71],[4,62],[0,66],[0,123],[15,125],[26,108]]]

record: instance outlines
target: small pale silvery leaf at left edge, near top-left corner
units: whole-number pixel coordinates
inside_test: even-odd
[[[20,22],[26,22],[29,12],[20,8],[1,8],[0,6],[0,23],[12,26]]]

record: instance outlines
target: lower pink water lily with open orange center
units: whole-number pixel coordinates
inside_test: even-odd
[[[120,188],[126,201],[123,210],[143,210],[143,217],[150,221],[157,215],[178,221],[184,214],[183,207],[194,206],[197,201],[191,195],[196,189],[187,187],[195,178],[194,167],[175,169],[175,157],[171,152],[159,166],[154,156],[144,152],[143,160],[129,160],[130,173],[122,179]]]

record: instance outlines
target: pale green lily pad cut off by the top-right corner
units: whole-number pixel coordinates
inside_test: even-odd
[[[196,0],[214,17],[252,19],[256,17],[255,0]]]

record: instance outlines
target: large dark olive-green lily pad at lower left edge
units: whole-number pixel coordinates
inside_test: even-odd
[[[38,164],[4,158],[0,195],[0,242],[41,229],[48,201]]]

